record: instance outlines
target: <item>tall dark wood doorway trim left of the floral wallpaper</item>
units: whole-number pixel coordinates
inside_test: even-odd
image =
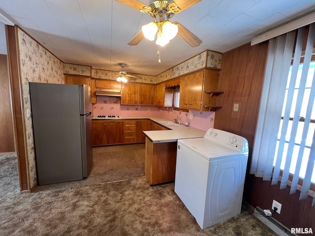
[[[25,133],[25,118],[23,112],[23,94],[20,72],[18,28],[5,26],[8,51],[10,90],[12,99],[13,126],[15,149],[18,159],[18,171],[21,193],[31,190],[27,140]]]

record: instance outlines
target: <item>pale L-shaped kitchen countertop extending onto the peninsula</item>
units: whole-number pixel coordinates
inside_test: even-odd
[[[93,119],[95,118],[96,117],[93,117]],[[153,121],[169,120],[163,117],[124,117],[124,116],[121,116],[120,119],[151,119]],[[119,120],[119,119],[116,118],[115,120]],[[178,139],[201,138],[206,134],[206,131],[196,129],[190,126],[185,126],[185,125],[167,126],[164,124],[161,124],[161,125],[169,128],[170,130],[151,130],[151,131],[143,131],[143,133],[153,143],[170,143],[170,142],[177,142]]]

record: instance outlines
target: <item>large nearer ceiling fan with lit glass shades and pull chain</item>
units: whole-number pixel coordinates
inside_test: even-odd
[[[179,13],[188,7],[196,4],[201,0],[150,0],[150,4],[145,5],[138,0],[116,0],[130,7],[133,7],[143,13],[149,13],[155,21],[148,25],[142,26],[142,29],[128,42],[128,45],[133,46],[141,42],[143,38],[151,41],[155,40],[158,44],[158,55],[160,46],[164,46],[178,34],[191,47],[197,47],[202,43],[202,40],[194,35],[189,29],[185,28],[179,22],[170,22],[174,14]],[[176,1],[176,2],[175,2]],[[160,59],[158,59],[160,63]]]

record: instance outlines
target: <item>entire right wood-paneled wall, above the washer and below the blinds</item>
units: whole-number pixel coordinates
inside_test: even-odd
[[[256,129],[260,96],[264,76],[268,43],[244,45],[223,54],[219,76],[219,91],[214,128],[245,137],[249,142],[251,164],[252,147]],[[233,112],[233,104],[239,103],[239,112]],[[247,172],[248,173],[248,172]],[[272,200],[282,204],[281,214],[273,215],[289,229],[291,227],[315,229],[315,207],[312,198],[299,200],[300,192],[289,195],[289,187],[279,189],[279,184],[247,174],[243,199],[252,207],[271,209]],[[312,217],[313,216],[313,217]]]

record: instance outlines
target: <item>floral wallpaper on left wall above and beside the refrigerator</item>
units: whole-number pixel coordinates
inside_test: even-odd
[[[37,177],[32,117],[27,117],[27,110],[31,110],[29,82],[63,84],[63,62],[23,30],[18,29],[18,37],[29,175],[33,187],[37,184]]]

